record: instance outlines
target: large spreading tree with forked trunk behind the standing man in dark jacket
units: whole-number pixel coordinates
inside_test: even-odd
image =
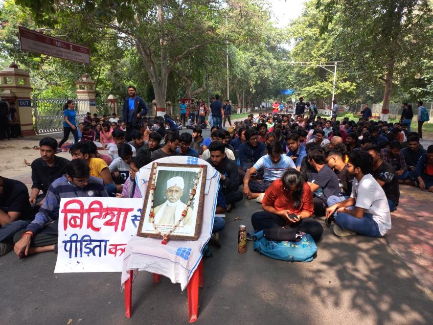
[[[37,23],[51,25],[58,13],[79,13],[110,36],[134,46],[153,85],[157,114],[164,115],[167,82],[175,66],[208,44],[221,46],[224,38],[248,42],[259,22],[262,3],[249,0],[17,0]],[[228,19],[224,24],[222,13]],[[266,22],[266,21],[265,21]],[[265,23],[262,22],[262,23]],[[261,25],[261,24],[257,24]],[[230,30],[230,32],[229,32]]]

